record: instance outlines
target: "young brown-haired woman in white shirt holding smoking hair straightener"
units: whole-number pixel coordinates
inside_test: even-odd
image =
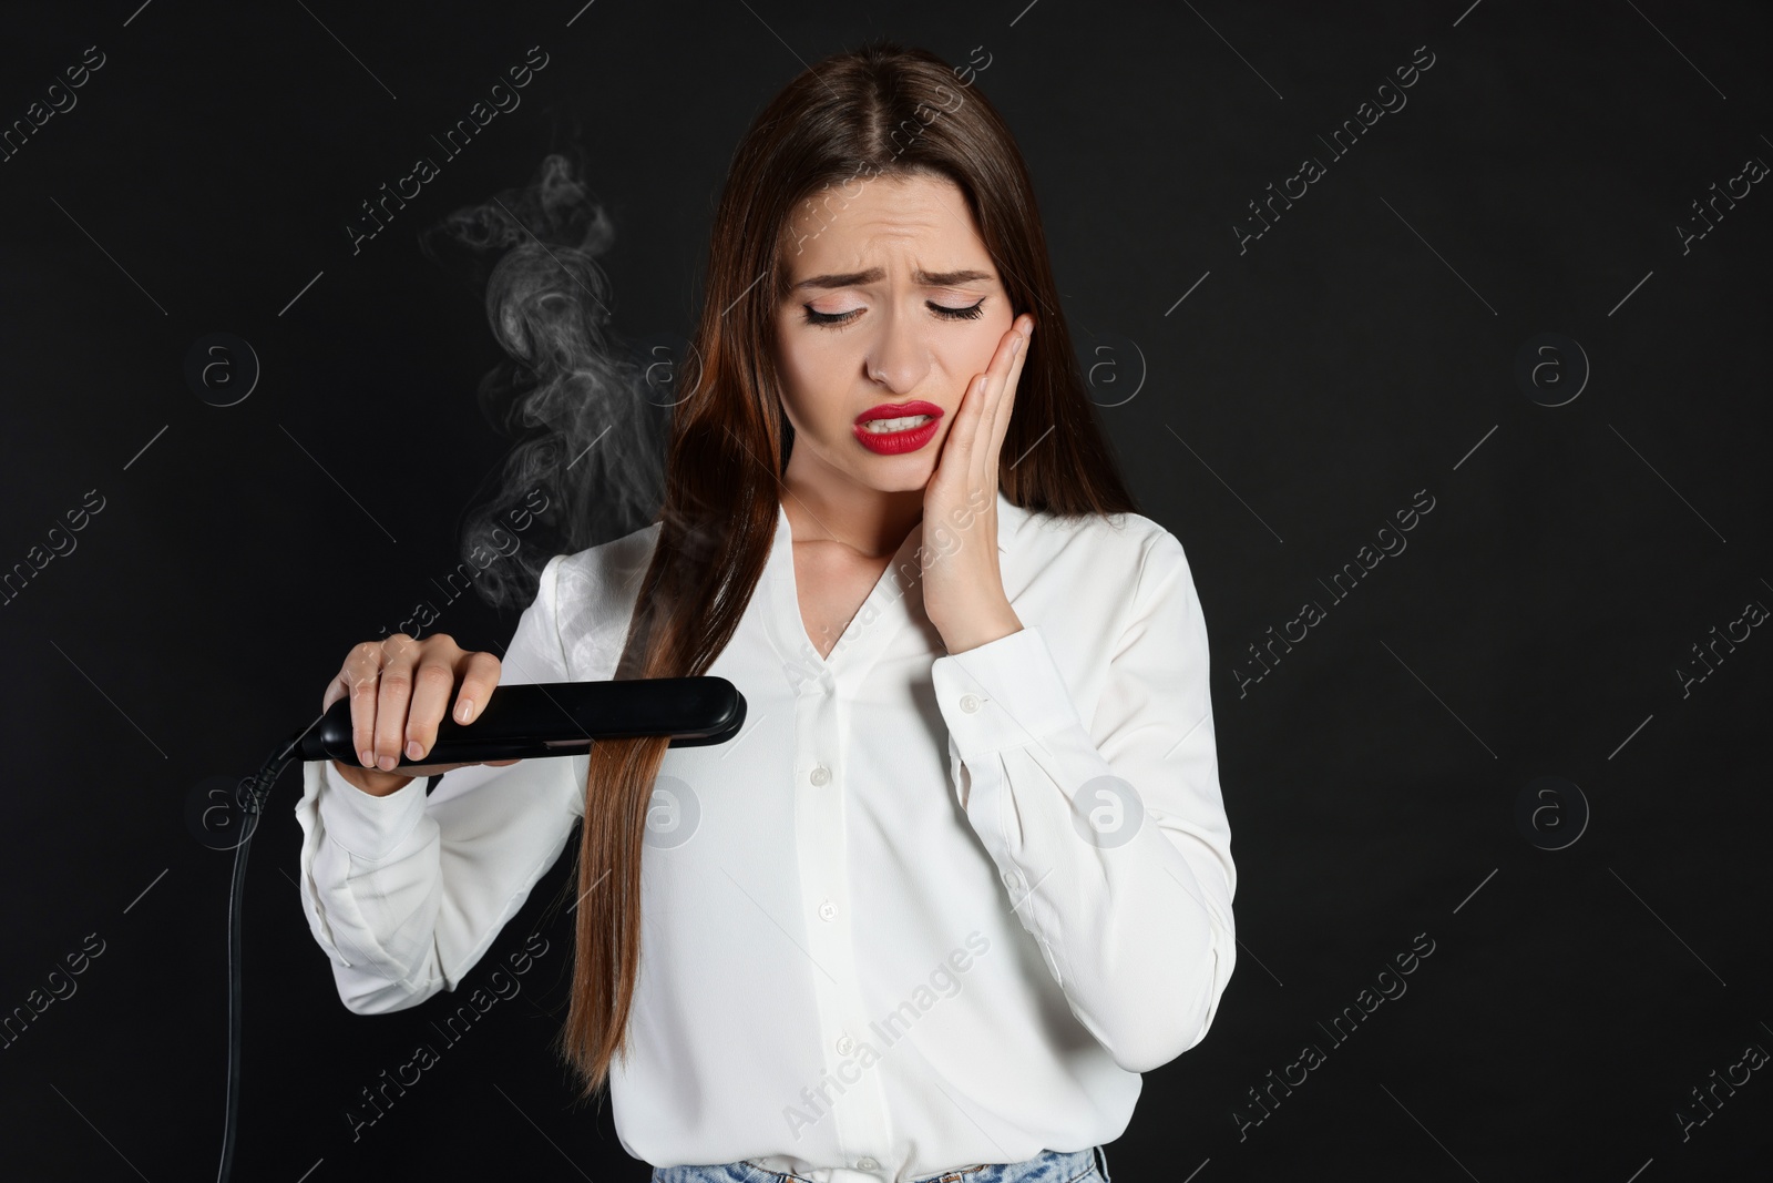
[[[1218,1009],[1236,871],[1193,578],[998,114],[894,44],[796,78],[695,349],[652,525],[550,559],[504,660],[395,633],[328,685],[362,766],[296,816],[339,993],[456,990],[582,823],[562,1048],[656,1181],[1106,1179]],[[699,674],[746,697],[723,745],[394,772],[500,679]]]

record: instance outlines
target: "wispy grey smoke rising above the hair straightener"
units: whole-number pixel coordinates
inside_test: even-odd
[[[663,500],[668,410],[649,381],[660,367],[613,341],[596,262],[613,236],[560,154],[543,160],[530,184],[456,209],[422,236],[431,257],[441,245],[482,271],[491,264],[486,319],[509,355],[480,378],[479,403],[518,443],[461,536],[465,559],[477,548],[507,555],[475,578],[493,607],[528,607],[550,557],[631,534]]]

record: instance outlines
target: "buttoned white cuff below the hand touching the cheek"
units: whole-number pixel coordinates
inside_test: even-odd
[[[1083,725],[1039,624],[936,658],[931,681],[966,763]]]

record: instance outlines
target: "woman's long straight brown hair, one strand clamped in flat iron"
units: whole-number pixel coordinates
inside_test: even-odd
[[[769,559],[793,447],[771,348],[791,220],[800,208],[840,209],[847,186],[874,177],[954,181],[1012,314],[1035,316],[1004,438],[1004,495],[1064,518],[1136,513],[1071,349],[1028,168],[972,74],[959,73],[926,50],[876,41],[794,78],[739,142],[709,239],[693,392],[672,415],[661,529],[615,678],[695,678],[732,639]],[[667,747],[667,738],[605,740],[590,750],[560,1038],[587,1100],[626,1052],[642,839]]]

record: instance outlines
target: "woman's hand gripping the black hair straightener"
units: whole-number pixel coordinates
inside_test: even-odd
[[[468,764],[411,764],[392,772],[401,756],[424,759],[436,743],[445,708],[457,724],[472,724],[498,685],[500,662],[468,653],[445,633],[413,640],[394,633],[365,640],[346,654],[326,685],[321,711],[351,695],[351,743],[358,763],[333,761],[346,780],[372,796],[387,796],[415,777],[433,777]],[[470,761],[516,764],[514,759]]]

